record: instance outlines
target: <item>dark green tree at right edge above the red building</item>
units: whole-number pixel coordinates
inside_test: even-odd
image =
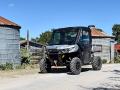
[[[112,27],[112,32],[117,43],[120,43],[120,24],[114,24]]]

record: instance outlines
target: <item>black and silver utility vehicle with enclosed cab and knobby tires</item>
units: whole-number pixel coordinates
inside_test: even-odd
[[[50,72],[51,66],[66,66],[74,75],[80,74],[82,65],[100,70],[102,61],[94,56],[90,27],[54,29],[46,46],[46,55],[40,60],[40,72]]]

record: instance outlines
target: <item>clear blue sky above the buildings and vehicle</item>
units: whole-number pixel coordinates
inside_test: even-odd
[[[53,28],[95,25],[109,35],[120,24],[120,0],[0,0],[0,16],[38,37]]]

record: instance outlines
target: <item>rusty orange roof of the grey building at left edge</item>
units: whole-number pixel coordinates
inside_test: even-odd
[[[13,27],[13,28],[17,28],[20,29],[21,26],[19,26],[18,24],[0,16],[0,26],[8,26],[8,27]]]

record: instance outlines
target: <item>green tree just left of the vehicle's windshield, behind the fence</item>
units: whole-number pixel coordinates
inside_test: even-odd
[[[51,35],[52,35],[51,31],[46,31],[40,34],[40,36],[36,38],[36,41],[41,44],[46,44],[50,40]]]

